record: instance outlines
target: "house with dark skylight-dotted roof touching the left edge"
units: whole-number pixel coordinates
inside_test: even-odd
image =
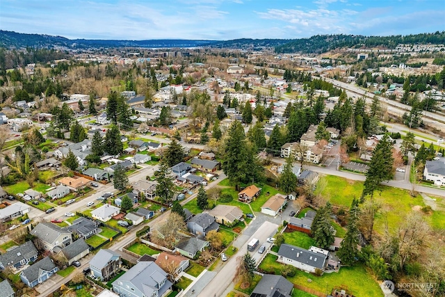
[[[18,269],[27,265],[29,262],[35,262],[39,256],[37,248],[35,248],[32,241],[25,243],[8,250],[3,255],[0,255],[0,269],[6,268]]]

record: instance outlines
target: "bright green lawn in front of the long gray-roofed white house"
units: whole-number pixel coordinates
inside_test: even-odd
[[[266,255],[259,268],[280,275],[284,264],[276,262],[276,259],[275,255]],[[354,296],[383,296],[378,283],[366,273],[364,266],[359,264],[341,267],[339,273],[325,273],[321,277],[297,269],[296,275],[287,279],[293,284],[302,284],[322,293],[330,292],[334,287],[346,286]],[[312,281],[308,282],[308,279]]]

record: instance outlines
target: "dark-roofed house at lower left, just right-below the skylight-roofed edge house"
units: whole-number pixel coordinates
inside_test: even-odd
[[[20,273],[20,279],[27,284],[28,287],[33,288],[51,278],[51,275],[57,271],[58,267],[53,263],[51,258],[44,257],[39,262],[34,263],[22,271],[22,273]]]

